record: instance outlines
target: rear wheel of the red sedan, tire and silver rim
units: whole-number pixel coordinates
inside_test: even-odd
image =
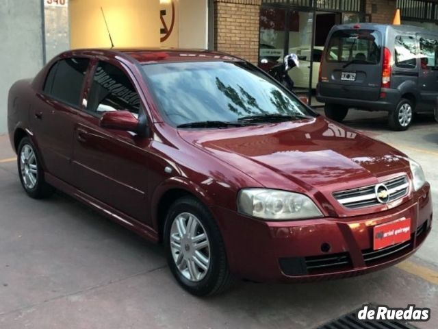
[[[34,199],[50,197],[55,190],[44,180],[40,157],[29,137],[20,141],[17,154],[18,176],[27,195]]]

